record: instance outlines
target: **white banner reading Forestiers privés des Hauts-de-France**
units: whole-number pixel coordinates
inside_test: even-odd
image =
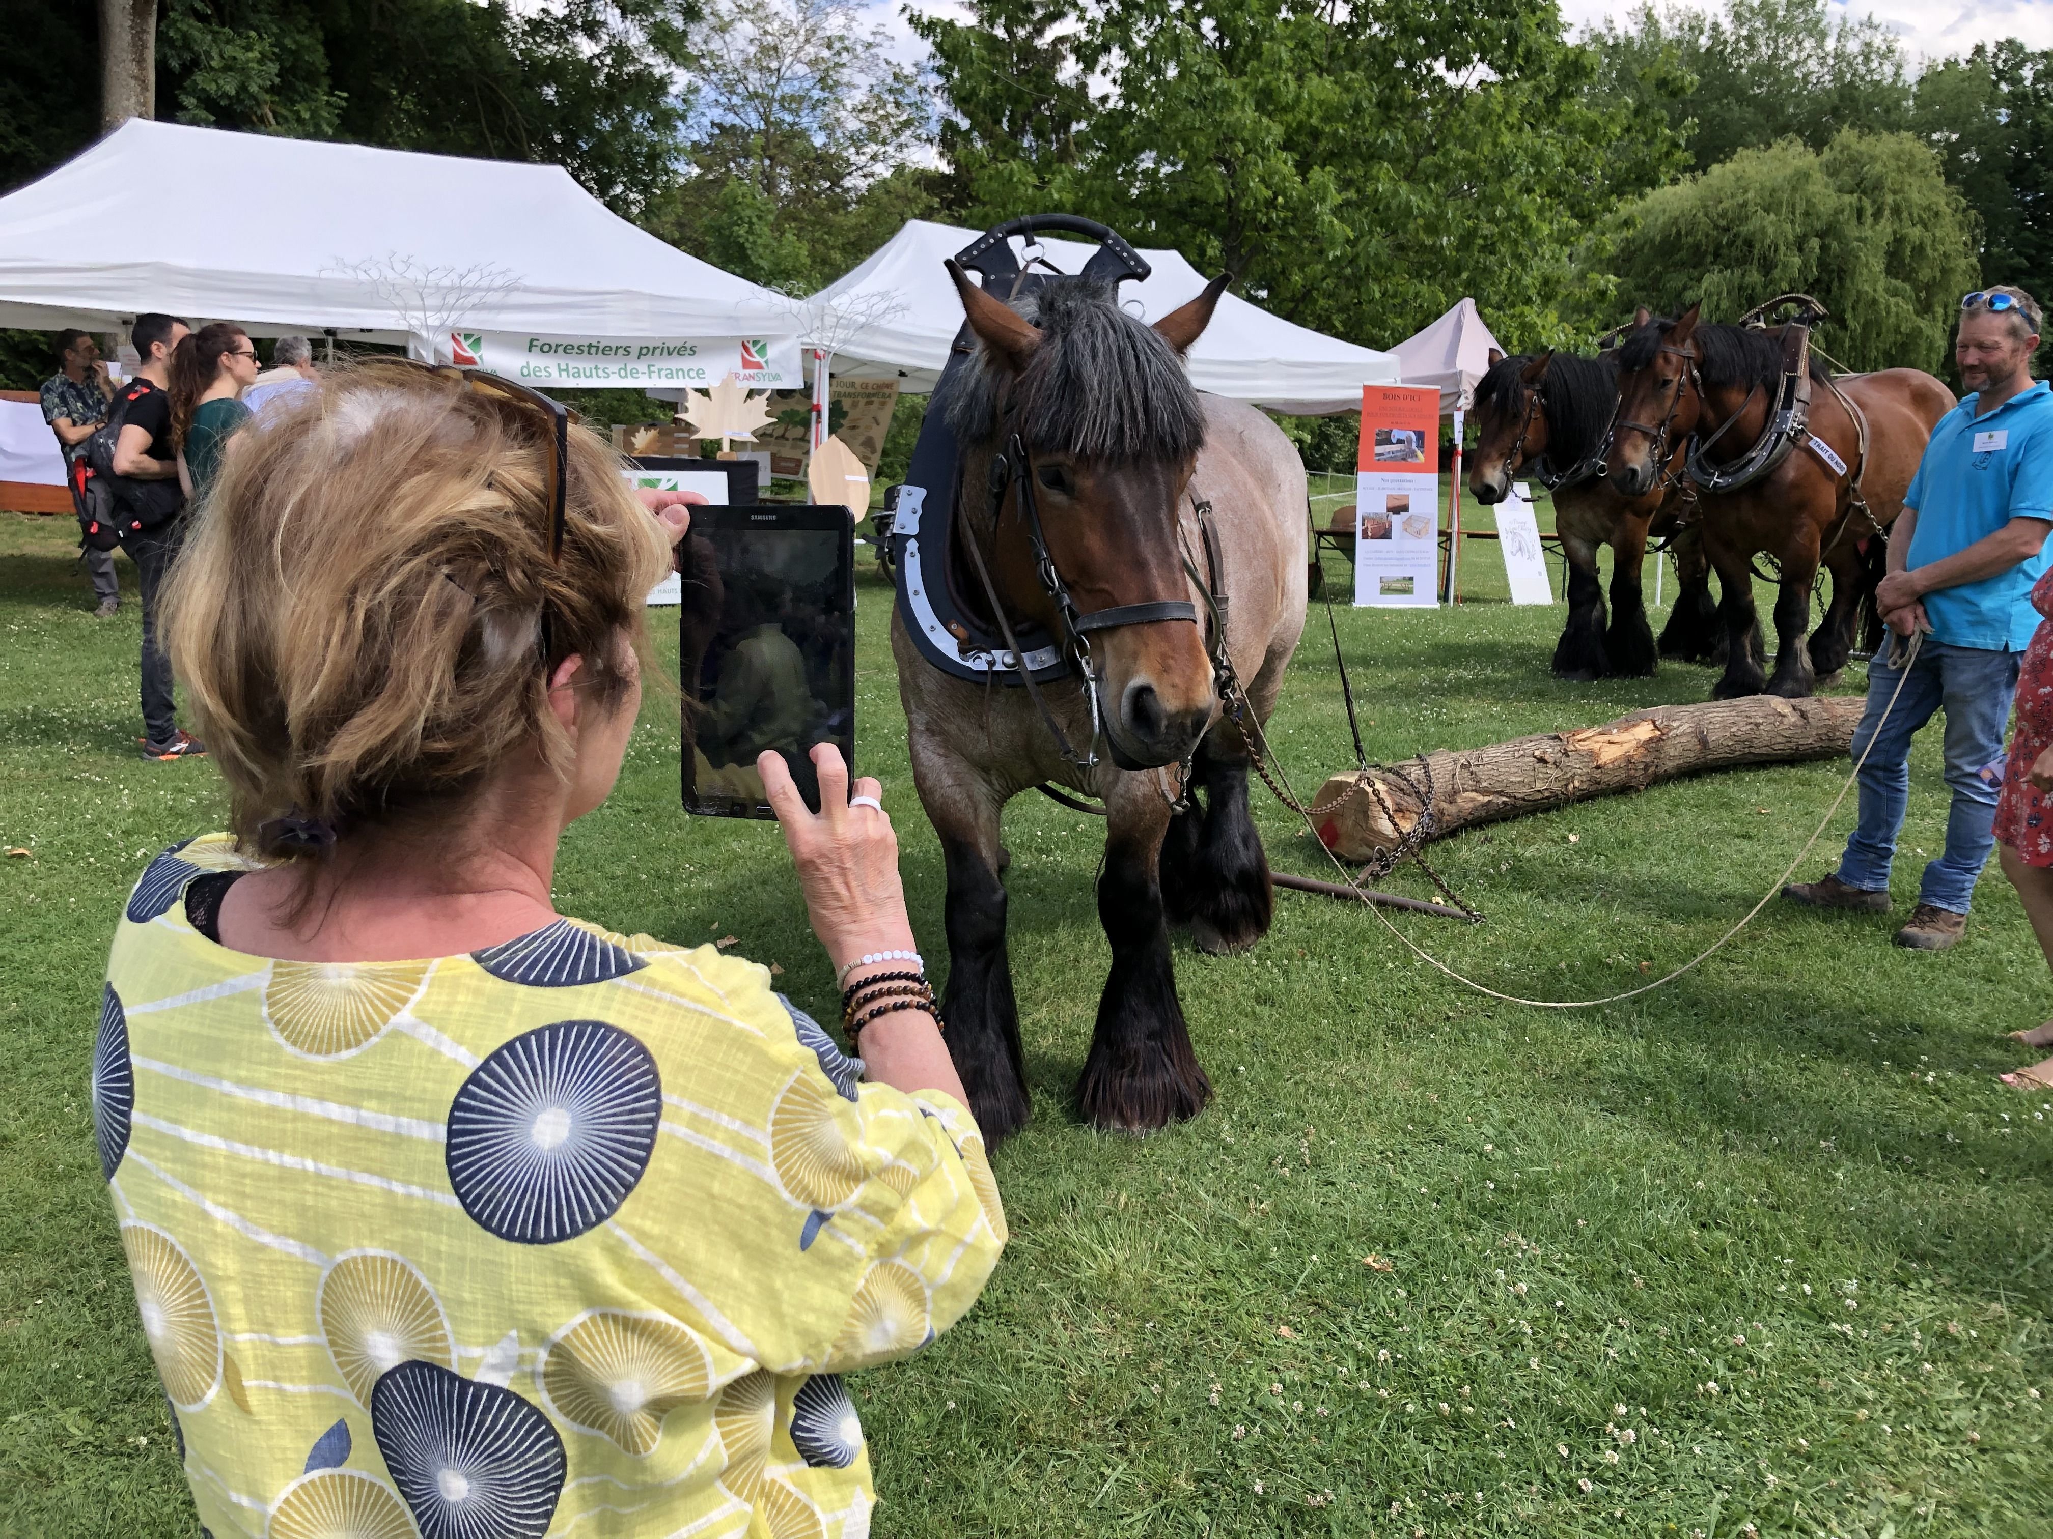
[[[563,390],[708,390],[733,373],[749,390],[799,390],[797,337],[530,337],[448,330],[435,361]]]

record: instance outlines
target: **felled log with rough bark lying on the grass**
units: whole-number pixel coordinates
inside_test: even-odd
[[[1312,802],[1312,825],[1341,860],[1363,862],[1419,823],[1429,774],[1437,839],[1478,823],[1640,790],[1657,780],[1829,759],[1852,745],[1864,706],[1860,696],[1745,696],[1655,706],[1581,733],[1517,737],[1460,753],[1439,749],[1365,774],[1332,776]]]

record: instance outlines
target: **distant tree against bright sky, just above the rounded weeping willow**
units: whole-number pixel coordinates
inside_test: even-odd
[[[1909,125],[1903,45],[1874,16],[1835,16],[1825,0],[1729,0],[1720,10],[1657,10],[1587,35],[1603,92],[1661,113],[1698,166],[1798,137],[1823,150],[1842,129]],[[1675,76],[1690,82],[1675,92]]]

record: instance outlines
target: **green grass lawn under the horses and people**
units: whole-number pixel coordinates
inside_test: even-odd
[[[68,531],[0,519],[0,843],[29,852],[0,860],[0,1533],[185,1537],[84,1086],[127,886],[218,827],[222,798],[203,761],[135,757],[135,609],[90,620]],[[1456,611],[1341,609],[1371,755],[1710,687],[1692,667],[1554,681],[1560,609],[1490,601],[1493,546],[1470,548],[1464,587],[1480,599]],[[864,577],[860,759],[938,950],[887,614]],[[1271,728],[1300,792],[1351,763],[1322,614],[1306,634]],[[675,755],[651,706],[620,790],[565,841],[563,909],[739,936],[829,1008],[776,829],[684,819]],[[1396,923],[1519,993],[1659,977],[1753,903],[1844,770],[1466,833],[1433,860],[1486,923]],[[1275,864],[1318,874],[1256,798]],[[1897,921],[1944,811],[1934,731]],[[2047,1533],[2053,1098],[1996,1071],[2026,1061],[2002,1034],[2053,989],[1993,868],[1952,952],[1895,950],[1883,917],[1770,907],[1677,985],[1577,1014],[1472,995],[1369,915],[1279,893],[1244,956],[1178,942],[1217,1100],[1139,1141],[1086,1131],[1070,1096],[1107,966],[1100,837],[1035,796],[1006,821],[1035,1122],[998,1159],[1012,1246],[983,1301],[856,1383],[877,1533]],[[1429,895],[1417,872],[1390,884]]]

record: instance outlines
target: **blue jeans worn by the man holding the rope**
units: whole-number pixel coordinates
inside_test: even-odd
[[[1996,847],[1996,835],[1989,833],[1996,823],[1996,786],[1977,772],[2004,751],[2010,696],[2016,694],[2024,655],[1950,646],[1926,636],[1918,663],[1903,681],[1903,694],[1883,722],[1889,698],[1903,675],[1889,665],[1891,657],[1893,650],[1868,663],[1868,708],[1854,728],[1852,753],[1858,761],[1868,743],[1874,743],[1874,751],[1860,767],[1860,821],[1846,841],[1839,880],[1870,893],[1889,886],[1889,860],[1897,852],[1897,833],[1903,829],[1903,808],[1911,790],[1911,737],[1932,720],[1934,710],[1944,710],[1952,811],[1946,817],[1946,852],[1926,866],[1918,901],[1967,913],[1975,897],[1975,878]]]

